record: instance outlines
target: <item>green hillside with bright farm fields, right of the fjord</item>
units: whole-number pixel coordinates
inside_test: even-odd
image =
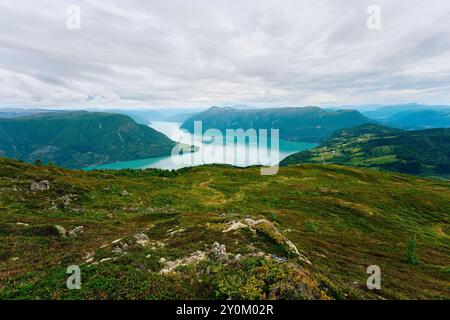
[[[404,131],[363,125],[335,133],[321,146],[281,165],[336,163],[426,176],[450,176],[450,129]]]

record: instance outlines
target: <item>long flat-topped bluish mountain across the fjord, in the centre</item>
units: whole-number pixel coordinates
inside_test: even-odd
[[[182,128],[194,132],[194,122],[202,121],[203,130],[279,129],[280,138],[290,141],[322,142],[334,131],[369,123],[355,110],[330,111],[318,107],[240,110],[211,107],[186,120]]]

